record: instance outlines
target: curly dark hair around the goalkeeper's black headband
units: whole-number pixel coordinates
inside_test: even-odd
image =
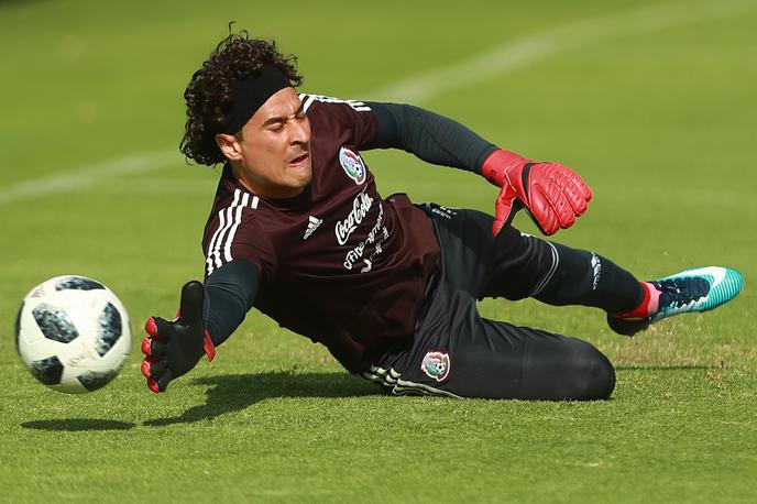
[[[278,68],[293,87],[297,87],[303,77],[297,74],[296,62],[294,55],[281,54],[275,42],[250,39],[245,30],[223,39],[200,69],[193,74],[184,91],[187,122],[179,151],[187,161],[208,166],[226,161],[216,144],[216,134],[221,133],[231,111],[234,100],[232,80],[242,80],[267,63]]]

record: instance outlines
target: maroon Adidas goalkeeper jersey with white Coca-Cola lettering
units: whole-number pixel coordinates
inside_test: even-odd
[[[362,372],[413,336],[438,256],[429,219],[407,196],[376,191],[360,150],[378,122],[359,101],[300,95],[311,125],[311,184],[260,197],[226,166],[202,240],[206,275],[234,259],[261,270],[254,306]]]

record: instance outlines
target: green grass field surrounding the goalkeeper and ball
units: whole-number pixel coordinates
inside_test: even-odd
[[[757,3],[272,4],[0,3],[0,501],[754,502]],[[201,276],[218,176],[177,152],[182,94],[230,20],[296,53],[306,91],[410,101],[573,167],[595,196],[558,241],[643,278],[731,265],[744,292],[634,339],[585,308],[482,303],[597,346],[607,402],[382,396],[260,314],[151,394],[141,326]],[[470,174],[366,158],[384,195],[493,206]],[[22,297],[66,273],[116,291],[135,331],[85,396],[36,383],[13,346]]]

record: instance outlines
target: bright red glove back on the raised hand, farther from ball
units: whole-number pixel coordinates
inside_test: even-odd
[[[555,234],[573,226],[592,197],[586,183],[569,167],[537,163],[509,151],[494,151],[482,171],[489,182],[502,187],[494,204],[494,235],[524,207],[544,234]]]

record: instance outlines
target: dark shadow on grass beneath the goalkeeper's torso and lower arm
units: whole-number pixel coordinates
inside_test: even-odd
[[[155,418],[145,426],[162,427],[207,420],[224,413],[239,412],[273,397],[359,397],[378,395],[381,390],[348,373],[266,372],[209,376],[193,381],[207,385],[207,402],[173,418]]]

